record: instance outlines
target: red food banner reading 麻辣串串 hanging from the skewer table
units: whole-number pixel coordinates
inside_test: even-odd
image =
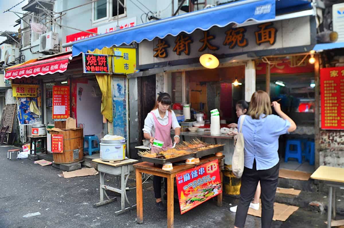
[[[179,173],[175,178],[181,214],[222,192],[217,159]]]

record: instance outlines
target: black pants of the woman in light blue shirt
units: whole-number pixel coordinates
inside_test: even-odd
[[[256,160],[252,169],[244,168],[241,177],[240,201],[235,215],[234,225],[239,228],[245,226],[248,207],[255,195],[258,181],[261,186],[261,227],[270,228],[273,217],[273,203],[278,182],[279,163],[270,169],[257,170]]]

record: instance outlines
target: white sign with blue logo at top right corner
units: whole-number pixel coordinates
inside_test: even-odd
[[[344,3],[332,5],[332,26],[332,30],[338,33],[336,42],[344,42]]]

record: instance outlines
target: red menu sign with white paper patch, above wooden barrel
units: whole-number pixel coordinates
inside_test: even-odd
[[[69,117],[69,86],[53,86],[53,119]]]

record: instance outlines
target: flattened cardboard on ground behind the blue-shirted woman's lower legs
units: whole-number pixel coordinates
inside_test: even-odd
[[[260,206],[259,210],[249,208],[247,214],[261,217],[261,203],[259,206]],[[278,220],[278,221],[284,222],[289,218],[289,216],[291,216],[295,211],[297,211],[297,209],[299,209],[299,207],[297,206],[274,203],[273,204],[274,213],[273,213],[272,220],[274,221]]]

